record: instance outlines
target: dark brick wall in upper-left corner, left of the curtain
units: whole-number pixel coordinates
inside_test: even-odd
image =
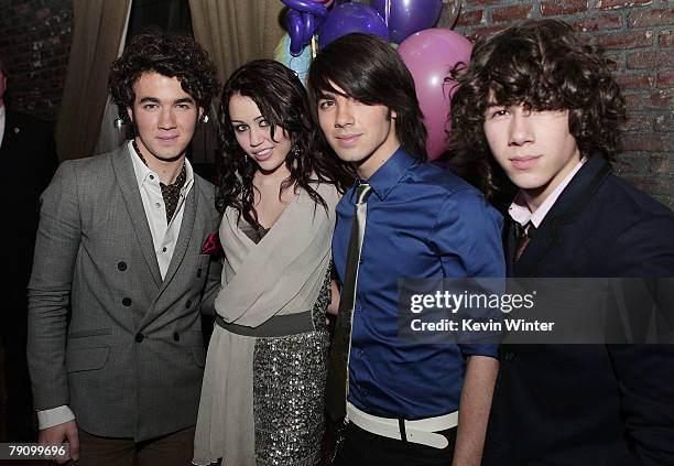
[[[56,120],[72,33],[73,0],[0,0],[0,56],[13,108]]]

